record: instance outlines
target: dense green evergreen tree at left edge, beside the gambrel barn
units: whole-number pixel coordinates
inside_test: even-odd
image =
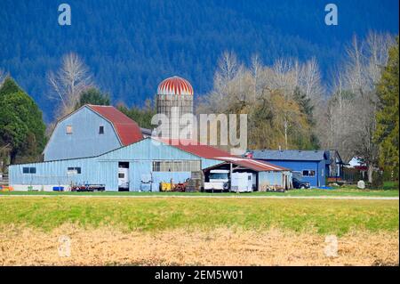
[[[9,145],[12,162],[35,161],[44,149],[42,111],[11,77],[0,88],[0,143]]]

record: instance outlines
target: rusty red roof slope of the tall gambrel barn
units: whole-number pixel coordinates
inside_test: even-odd
[[[106,118],[116,129],[116,134],[124,146],[143,139],[138,124],[112,106],[87,105],[91,110]]]

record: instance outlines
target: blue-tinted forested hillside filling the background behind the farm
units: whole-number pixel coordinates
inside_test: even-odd
[[[60,2],[61,3],[61,2]],[[324,24],[326,1],[68,1],[72,25],[58,24],[57,1],[2,0],[0,69],[11,73],[51,121],[46,74],[63,54],[77,53],[113,103],[143,105],[157,84],[187,77],[197,94],[212,89],[226,50],[265,64],[316,57],[326,78],[344,59],[345,45],[368,30],[398,32],[397,0],[336,0],[339,26]]]

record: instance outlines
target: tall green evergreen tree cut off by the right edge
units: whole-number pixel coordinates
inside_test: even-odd
[[[374,137],[380,146],[380,166],[385,170],[393,171],[395,178],[398,178],[399,170],[398,44],[397,37],[396,45],[389,50],[388,65],[384,69],[378,85],[380,110],[376,114],[377,129]]]

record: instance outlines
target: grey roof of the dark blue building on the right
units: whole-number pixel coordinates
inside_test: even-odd
[[[328,157],[326,157],[326,152],[324,150],[253,150],[252,158],[321,161]]]

